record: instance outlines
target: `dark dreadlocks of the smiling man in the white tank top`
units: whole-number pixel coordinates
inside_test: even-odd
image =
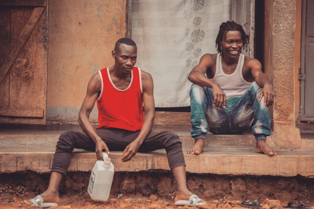
[[[241,34],[241,39],[243,42],[243,49],[247,48],[247,41],[246,41],[246,34],[242,28],[241,25],[236,24],[235,21],[232,20],[231,21],[227,21],[225,23],[222,23],[219,26],[219,32],[216,38],[216,48],[217,48],[217,52],[220,54],[220,56],[222,55],[222,49],[221,49],[221,45],[220,42],[223,40],[223,37],[226,38],[226,34],[228,31],[239,31]]]

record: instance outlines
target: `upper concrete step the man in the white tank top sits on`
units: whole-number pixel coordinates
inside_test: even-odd
[[[82,130],[79,126],[66,126],[60,128],[48,127],[50,130],[25,130],[25,129],[0,129],[2,145],[56,145],[60,134],[67,130]],[[56,130],[57,129],[57,130]],[[154,126],[153,130],[172,131],[178,134],[182,142],[182,148],[191,148],[194,139],[191,137],[190,126]],[[16,140],[18,138],[18,140]],[[217,135],[208,133],[205,135],[205,147],[224,149],[254,149],[256,142],[250,132],[238,135]]]

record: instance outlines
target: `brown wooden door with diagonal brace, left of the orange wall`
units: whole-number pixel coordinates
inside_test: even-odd
[[[0,123],[46,123],[46,0],[0,0]]]

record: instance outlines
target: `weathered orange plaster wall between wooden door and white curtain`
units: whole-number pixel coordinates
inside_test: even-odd
[[[77,123],[89,79],[114,63],[126,37],[126,8],[127,0],[49,0],[47,123]]]

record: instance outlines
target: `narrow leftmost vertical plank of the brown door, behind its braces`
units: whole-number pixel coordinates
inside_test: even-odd
[[[10,52],[10,8],[0,7],[0,66]],[[0,83],[0,108],[9,108],[9,74]],[[8,123],[8,117],[0,117],[0,123]]]

